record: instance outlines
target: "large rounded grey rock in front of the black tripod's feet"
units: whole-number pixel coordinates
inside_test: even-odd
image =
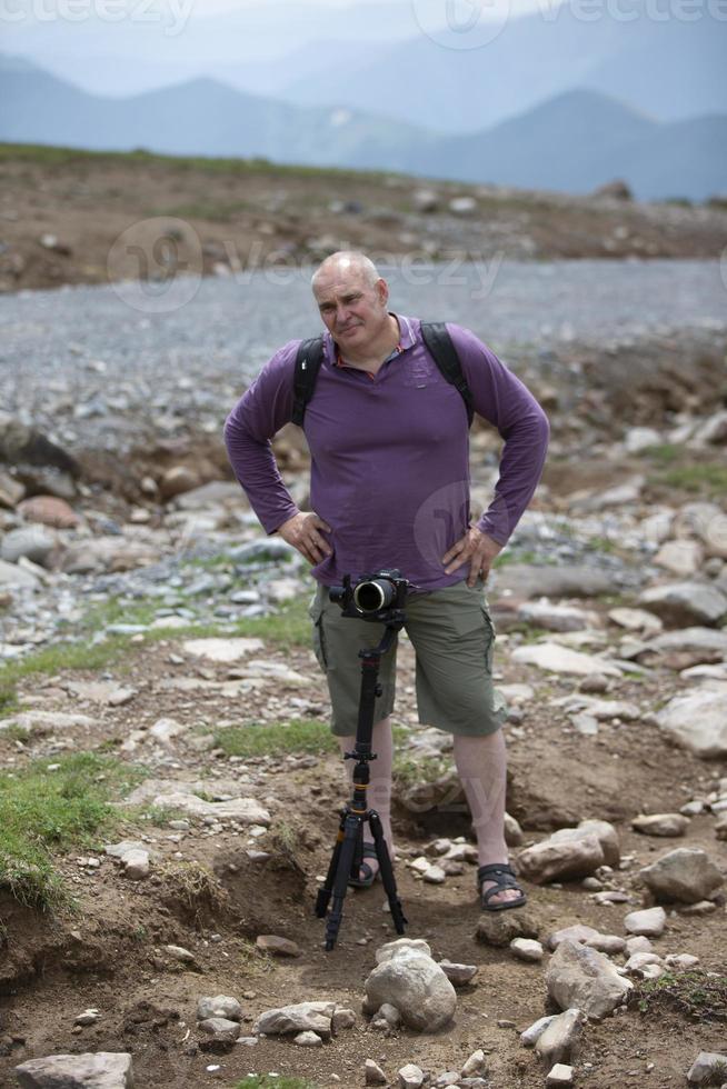
[[[408,938],[388,942],[377,950],[377,961],[366,980],[366,1012],[390,1002],[405,1025],[418,1032],[434,1032],[451,1021],[457,1007],[455,988],[431,959],[426,942]]]

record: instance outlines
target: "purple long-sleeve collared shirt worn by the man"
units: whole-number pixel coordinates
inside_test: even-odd
[[[311,454],[310,503],[331,527],[332,556],[312,569],[326,586],[397,567],[422,590],[467,577],[441,557],[470,524],[469,431],[461,394],[442,378],[420,321],[397,316],[400,350],[375,378],[336,362],[325,336],[316,391],[306,408]],[[536,489],[548,444],[548,420],[522,382],[474,333],[447,324],[476,412],[505,439],[495,494],[477,526],[505,544]],[[263,367],[225,423],[235,474],[265,530],[298,513],[276,464],[270,439],[290,422],[300,341]]]

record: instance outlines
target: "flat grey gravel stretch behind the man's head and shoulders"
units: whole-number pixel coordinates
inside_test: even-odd
[[[468,326],[516,371],[570,341],[727,328],[717,261],[492,262],[385,268],[391,306]],[[121,283],[0,297],[0,401],[71,448],[122,453],[142,432],[218,433],[286,340],[320,321],[310,268],[171,288]],[[727,269],[721,272],[727,280]],[[130,301],[133,304],[130,304]],[[176,304],[176,309],[169,309]],[[166,312],[153,312],[167,308]]]

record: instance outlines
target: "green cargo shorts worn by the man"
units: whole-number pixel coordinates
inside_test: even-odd
[[[482,582],[456,582],[441,590],[407,598],[406,632],[417,659],[419,721],[449,733],[478,737],[494,733],[507,718],[504,699],[492,687],[495,628]],[[343,617],[318,586],[308,609],[313,622],[313,650],[326,673],[331,701],[331,730],[338,737],[356,733],[361,685],[362,647],[376,647],[385,627]],[[398,637],[381,659],[374,721],[394,710]]]

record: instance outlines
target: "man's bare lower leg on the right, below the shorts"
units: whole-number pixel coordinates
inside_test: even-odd
[[[507,862],[505,842],[505,788],[507,782],[507,755],[501,730],[485,737],[455,736],[455,763],[477,836],[480,866]],[[495,881],[485,881],[482,890],[492,888]],[[506,889],[490,897],[490,903],[517,900],[516,889]]]

